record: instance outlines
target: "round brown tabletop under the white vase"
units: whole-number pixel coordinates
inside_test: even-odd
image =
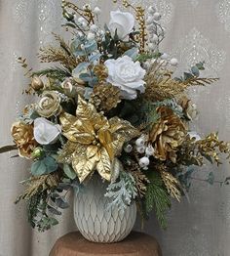
[[[125,240],[117,243],[94,243],[80,233],[70,233],[60,237],[50,252],[50,256],[162,256],[157,240],[142,233],[133,232]]]

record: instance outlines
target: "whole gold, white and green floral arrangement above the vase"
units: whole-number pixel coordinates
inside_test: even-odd
[[[122,6],[101,28],[98,7],[63,0],[63,26],[73,38],[55,34],[58,46],[38,54],[53,65],[34,71],[19,58],[30,79],[24,93],[37,100],[13,124],[15,144],[0,151],[17,149],[32,160],[17,202],[26,201],[28,220],[40,231],[58,224],[54,216],[68,207],[67,192],[94,175],[108,182],[108,207],[123,210],[135,200],[143,218],[154,209],[166,228],[172,198],[179,201],[191,185],[188,167],[230,156],[216,133],[201,138],[189,129],[198,110],[188,89],[217,78],[201,76],[205,63],[175,77],[177,60],[160,51],[161,15],[153,6]],[[213,183],[212,174],[207,181]]]

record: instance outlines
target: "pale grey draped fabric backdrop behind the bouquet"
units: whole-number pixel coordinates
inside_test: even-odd
[[[34,68],[39,67],[38,48],[53,40],[51,32],[63,33],[60,2],[0,0],[1,146],[11,143],[11,124],[29,101],[21,94],[28,81],[16,60],[23,56]],[[112,1],[90,2],[103,8],[102,23],[108,21],[109,10],[115,8]],[[230,0],[133,2],[158,7],[167,32],[162,48],[178,59],[180,71],[205,61],[208,68],[204,74],[221,78],[215,85],[192,90],[192,98],[200,109],[200,118],[194,127],[202,135],[218,130],[221,139],[230,141]],[[14,205],[23,189],[19,181],[28,175],[29,166],[24,159],[10,158],[12,155],[14,153],[0,156],[0,255],[48,255],[60,235],[76,229],[72,209],[64,212],[60,224],[53,230],[45,234],[31,230],[25,205]],[[219,169],[207,165],[196,178],[206,178],[211,171],[217,181],[230,176],[227,164]],[[167,231],[160,230],[154,216],[145,225],[145,232],[160,241],[165,256],[230,255],[230,187],[196,181],[189,200],[183,198],[180,204],[173,203],[168,217]]]

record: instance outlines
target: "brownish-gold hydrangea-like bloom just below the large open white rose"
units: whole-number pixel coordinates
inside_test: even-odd
[[[96,106],[98,110],[109,111],[121,102],[120,91],[117,87],[109,84],[97,84],[91,95],[90,102]]]

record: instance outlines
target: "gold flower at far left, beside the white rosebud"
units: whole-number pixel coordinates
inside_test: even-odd
[[[33,137],[33,126],[19,121],[13,124],[11,133],[19,149],[19,155],[31,158],[31,153],[37,146],[37,142]]]

